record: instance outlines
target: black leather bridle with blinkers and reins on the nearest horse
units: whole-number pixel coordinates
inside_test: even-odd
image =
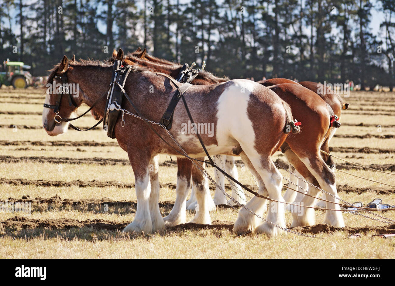
[[[57,79],[57,78],[59,77],[59,79],[62,80],[62,84],[66,84],[66,83],[67,83],[67,71],[68,71],[69,67],[70,67],[70,65],[67,67],[66,71],[65,71],[62,75],[55,75],[54,78]],[[62,87],[63,87],[63,86],[62,86]],[[51,109],[54,110],[54,112],[55,112],[55,118],[54,118],[54,119],[55,119],[55,122],[56,122],[56,123],[60,123],[60,122],[70,122],[70,121],[72,121],[72,120],[76,120],[76,119],[78,119],[78,118],[81,118],[82,116],[84,116],[85,114],[87,114],[90,110],[92,110],[92,108],[95,107],[95,105],[100,101],[100,99],[102,99],[105,95],[107,95],[107,93],[104,93],[98,100],[95,101],[95,103],[94,103],[87,111],[85,111],[85,112],[84,112],[83,114],[81,114],[80,116],[75,117],[75,118],[62,118],[62,117],[59,115],[59,108],[60,108],[60,102],[61,102],[61,100],[62,100],[62,95],[68,95],[68,101],[69,101],[69,105],[70,105],[70,106],[73,105],[75,108],[78,107],[77,104],[75,103],[75,101],[73,100],[73,97],[72,97],[71,94],[70,94],[70,90],[67,88],[67,93],[65,92],[65,90],[66,90],[66,88],[63,87],[63,88],[62,88],[62,92],[61,92],[61,93],[58,93],[58,96],[57,96],[57,98],[56,98],[56,102],[55,102],[54,105],[50,105],[50,104],[44,103],[44,107],[46,107],[46,108],[51,108]],[[73,128],[74,130],[77,130],[77,131],[88,131],[88,130],[90,130],[90,129],[93,129],[93,128],[96,127],[97,125],[99,125],[102,121],[103,121],[103,118],[102,118],[98,123],[96,123],[96,124],[93,125],[92,127],[88,128],[88,129],[85,129],[85,130],[81,130],[81,129],[79,129],[78,127],[75,127],[73,124],[70,124],[70,127]]]

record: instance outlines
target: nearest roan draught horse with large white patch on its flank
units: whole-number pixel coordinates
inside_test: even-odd
[[[98,103],[93,109],[99,116],[103,116],[105,97],[100,95],[107,94],[112,69],[112,65],[104,62],[69,63],[64,56],[60,64],[52,69],[47,83],[55,80],[56,84],[62,84],[59,79],[67,73],[67,83],[79,84],[80,93],[73,99],[73,105],[68,104],[66,96],[61,97],[58,118],[69,118],[82,103],[92,106],[96,101]],[[171,83],[169,78],[153,73],[146,67],[137,66],[134,66],[128,76],[124,89],[142,116],[154,122],[160,121],[164,107],[168,106],[176,91],[174,83]],[[150,92],[152,90],[154,92]],[[56,89],[56,93],[58,92]],[[57,94],[51,91],[47,94],[45,103],[55,105],[57,98]],[[265,193],[279,201],[275,203],[274,209],[269,209],[267,219],[285,228],[284,200],[281,196],[282,176],[273,164],[271,156],[287,137],[284,128],[293,120],[289,105],[270,89],[256,82],[241,79],[211,86],[191,86],[186,94],[186,101],[196,123],[214,124],[214,136],[201,134],[210,153],[232,155],[233,148],[242,148],[243,156],[250,161],[264,183]],[[123,106],[126,110],[136,113],[128,101],[125,101]],[[262,118],[266,118],[265,124],[262,124]],[[205,153],[196,134],[182,132],[182,125],[188,121],[185,108],[182,105],[177,106],[171,133],[191,157],[202,157]],[[43,127],[49,135],[55,136],[64,133],[68,123],[56,123],[53,109],[45,107]],[[169,139],[163,128],[156,125],[153,125],[153,128],[162,137]],[[137,195],[135,219],[126,226],[124,232],[151,233],[164,229],[164,220],[158,206],[157,170],[150,170],[149,164],[157,154],[178,156],[179,153],[156,136],[145,122],[132,116],[124,118],[124,127],[121,120],[117,122],[115,136],[120,147],[128,152]],[[173,146],[177,148],[175,144]],[[189,180],[189,177],[186,179]],[[196,196],[202,194],[197,192]],[[197,215],[200,209],[204,210],[205,207],[204,203],[199,206]],[[277,235],[284,231],[269,222],[264,222],[259,226],[259,232]]]

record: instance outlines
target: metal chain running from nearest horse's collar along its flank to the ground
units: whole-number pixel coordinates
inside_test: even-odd
[[[141,118],[140,116],[138,116],[138,115],[136,115],[136,114],[134,114],[134,113],[132,113],[132,112],[129,112],[128,110],[125,110],[125,109],[121,108],[118,104],[115,106],[115,109],[121,111],[122,114],[126,113],[126,114],[128,114],[128,115],[130,115],[130,116],[133,116],[133,117],[135,117],[135,118],[138,118],[138,119],[140,119],[140,120],[144,120],[144,119]],[[122,116],[122,120],[124,120],[124,115]],[[205,177],[211,181],[211,183],[213,183],[215,186],[218,186],[218,188],[220,188],[220,190],[222,191],[222,193],[223,193],[225,196],[227,196],[230,200],[232,200],[235,204],[237,204],[237,205],[240,206],[240,207],[245,208],[247,211],[249,211],[250,213],[252,213],[252,214],[255,215],[256,217],[258,217],[258,218],[261,219],[262,221],[268,222],[269,224],[271,224],[271,225],[273,225],[273,226],[275,226],[275,227],[277,227],[277,228],[280,228],[281,230],[284,230],[284,231],[286,231],[286,232],[290,232],[290,233],[293,233],[293,234],[297,234],[297,235],[299,235],[299,236],[305,236],[305,237],[311,237],[311,238],[321,238],[321,237],[317,237],[317,236],[310,236],[310,235],[308,235],[308,234],[303,234],[303,233],[296,232],[296,231],[294,231],[294,230],[290,230],[290,229],[288,229],[288,228],[284,228],[284,227],[282,227],[282,226],[279,226],[279,225],[277,225],[277,224],[275,224],[275,223],[273,223],[273,222],[271,222],[271,221],[268,221],[267,219],[264,219],[263,217],[261,217],[260,215],[258,215],[257,213],[255,213],[254,211],[248,209],[248,207],[246,207],[245,205],[242,205],[242,204],[240,204],[239,202],[237,202],[237,200],[235,200],[232,196],[230,196],[229,194],[227,194],[227,193],[224,191],[224,189],[222,189],[222,187],[220,187],[220,186],[215,182],[215,180],[214,180],[213,178],[211,178],[211,176],[210,176],[209,173],[205,170],[205,168],[203,168],[200,164],[196,164],[196,163],[194,162],[194,160],[188,156],[188,154],[184,151],[184,149],[183,149],[183,148],[181,147],[181,145],[177,142],[177,140],[175,140],[175,138],[173,137],[173,135],[171,135],[171,133],[166,129],[166,126],[165,126],[165,125],[160,124],[160,123],[157,123],[157,122],[154,122],[154,121],[151,121],[151,120],[148,120],[148,119],[145,119],[145,120],[146,120],[147,122],[151,123],[151,124],[158,125],[158,126],[162,127],[162,128],[167,132],[167,134],[170,136],[170,138],[175,142],[175,144],[180,148],[180,150],[182,151],[182,153],[184,153],[184,155],[192,162],[192,164],[194,164],[194,166],[195,166],[196,168],[198,168],[198,170],[200,170],[200,171],[205,175]],[[233,206],[232,206],[232,207],[233,207]],[[323,238],[322,238],[322,239],[323,239]]]

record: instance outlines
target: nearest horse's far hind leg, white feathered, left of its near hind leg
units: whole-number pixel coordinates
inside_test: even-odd
[[[252,165],[250,159],[246,156],[244,152],[240,154],[241,159],[243,162],[248,166],[252,175],[257,179],[259,184],[259,191],[258,193],[263,196],[268,196],[267,190],[265,188],[265,184],[263,183],[261,176],[256,172],[254,166]],[[267,200],[263,198],[259,198],[257,196],[253,196],[252,199],[246,204],[246,208],[250,209],[257,215],[263,216],[263,213],[266,211],[266,202]],[[256,215],[242,207],[239,211],[239,216],[233,226],[233,232],[236,234],[245,234],[247,232],[254,232],[255,228],[260,224],[262,221]]]

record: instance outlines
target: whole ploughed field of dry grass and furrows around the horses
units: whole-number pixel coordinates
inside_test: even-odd
[[[324,212],[318,210],[315,226],[293,230],[324,239],[291,233],[272,238],[235,236],[232,227],[238,210],[226,206],[211,212],[211,226],[184,224],[145,236],[123,234],[122,229],[134,219],[137,202],[127,153],[107,137],[101,125],[82,133],[69,129],[63,135],[47,135],[41,123],[44,98],[42,90],[0,89],[0,206],[5,202],[31,206],[31,213],[0,209],[0,258],[393,257],[395,239],[372,235],[395,233],[395,224],[346,213],[346,228],[336,229],[321,224]],[[395,93],[351,92],[346,102],[350,108],[343,110],[342,126],[330,142],[331,153],[395,175]],[[297,120],[306,128],[303,118]],[[76,125],[94,123],[87,115]],[[175,201],[175,159],[160,156],[162,216]],[[273,160],[286,162],[280,152]],[[334,161],[340,170],[395,185],[393,175]],[[257,189],[243,163],[237,161],[237,166],[241,182]],[[208,172],[214,177],[213,168]],[[289,178],[284,170],[280,172]],[[366,204],[381,198],[395,205],[395,187],[339,171],[336,179],[340,198],[348,202]],[[378,213],[395,220],[395,211]],[[187,221],[193,217],[194,212],[187,211]],[[286,220],[290,225],[289,211]],[[356,232],[362,236],[347,238]]]

